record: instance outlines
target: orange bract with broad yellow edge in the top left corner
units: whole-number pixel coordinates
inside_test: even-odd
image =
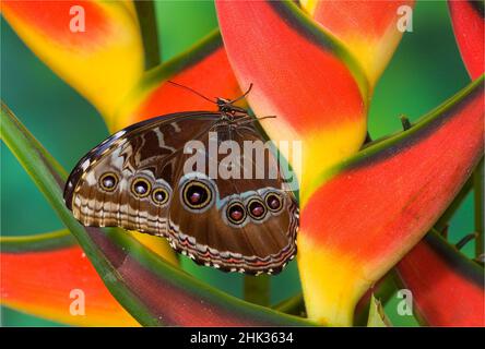
[[[2,1],[2,15],[52,71],[107,119],[143,73],[131,1]]]

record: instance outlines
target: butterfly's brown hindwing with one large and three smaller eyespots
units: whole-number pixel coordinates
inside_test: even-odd
[[[261,135],[251,125],[214,129],[217,141],[232,140],[244,149],[245,141],[261,142]],[[210,148],[209,135],[200,141]],[[240,163],[244,157],[252,161],[253,171],[250,178],[245,178],[244,168],[240,179],[216,179],[209,177],[209,166],[205,171],[187,172],[185,161],[190,155],[184,155],[176,170],[178,182],[174,183],[174,192],[169,207],[168,232],[174,249],[190,256],[199,264],[210,265],[228,272],[249,274],[277,274],[296,254],[296,232],[298,229],[298,208],[293,193],[288,190],[279,171],[272,153],[265,153],[265,170],[263,178],[256,177],[257,164],[253,155],[240,152]],[[216,164],[221,165],[224,155],[216,155]],[[214,160],[214,154],[206,154],[206,165]],[[271,166],[273,166],[271,168]],[[276,176],[270,176],[270,169]],[[261,176],[260,176],[261,177]],[[199,186],[201,192],[208,190],[208,204],[193,208],[190,202],[190,190]],[[193,189],[192,189],[193,191]],[[272,196],[273,195],[273,196]],[[210,196],[210,197],[209,197]],[[268,198],[277,197],[281,206],[270,209]],[[258,206],[258,205],[259,206]],[[252,205],[252,206],[251,206]],[[235,215],[235,207],[242,216]],[[263,209],[262,216],[255,216],[250,207]]]

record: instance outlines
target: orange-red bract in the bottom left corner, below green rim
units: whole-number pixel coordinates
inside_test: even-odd
[[[80,246],[1,253],[2,303],[78,326],[138,326],[116,301]],[[85,296],[85,315],[70,313],[72,290]]]

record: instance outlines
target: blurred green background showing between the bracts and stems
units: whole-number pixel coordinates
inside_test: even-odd
[[[189,48],[217,26],[212,1],[157,1],[159,43],[164,61]],[[64,166],[78,159],[107,135],[96,110],[45,67],[1,20],[1,96],[27,129]],[[251,48],[248,47],[248,50]],[[401,130],[400,115],[412,121],[438,106],[470,82],[452,34],[443,1],[417,1],[413,33],[406,33],[375,92],[369,132],[372,139]],[[21,236],[62,228],[43,195],[1,143],[1,233]],[[446,166],[443,164],[442,166]],[[450,241],[473,231],[473,202],[468,197],[450,226]],[[473,243],[465,248],[470,255]],[[223,274],[184,260],[199,278],[241,297],[240,275]],[[272,277],[272,301],[300,290],[296,263]],[[386,305],[394,325],[413,326],[410,316],[397,314],[395,297]],[[58,325],[2,308],[3,326]]]

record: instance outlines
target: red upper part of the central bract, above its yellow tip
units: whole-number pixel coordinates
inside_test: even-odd
[[[360,120],[365,105],[354,76],[277,1],[216,1],[224,45],[259,116],[275,115],[298,133]],[[296,10],[294,10],[296,11]],[[308,25],[305,27],[304,25]],[[314,28],[315,29],[315,28]]]

